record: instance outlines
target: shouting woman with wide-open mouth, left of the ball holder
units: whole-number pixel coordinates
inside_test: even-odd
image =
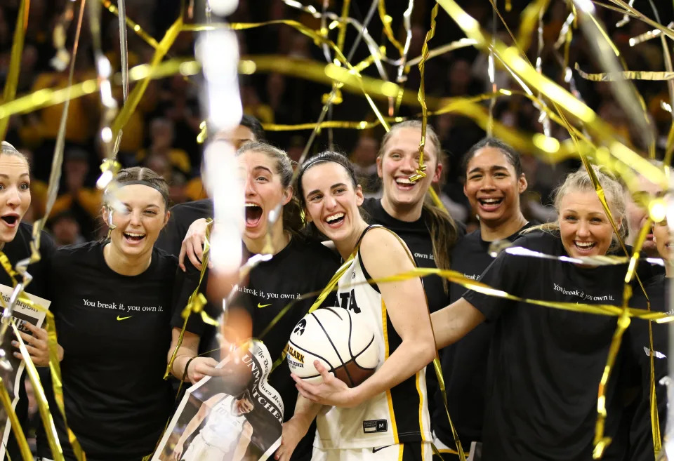
[[[293,197],[293,187],[290,184],[293,168],[286,153],[262,142],[249,142],[239,149],[237,157],[246,201],[246,228],[243,236],[245,250],[253,254],[265,253],[268,233],[272,243],[272,258],[253,267],[247,283],[242,284],[239,295],[228,305],[225,328],[230,333],[226,338],[230,342],[259,338],[291,300],[298,295],[324,288],[339,267],[339,259],[335,253],[321,243],[308,241],[299,234],[303,222],[300,208]],[[270,213],[279,204],[282,205],[279,218],[270,222]],[[201,229],[199,232],[203,233],[204,223],[204,220],[194,222],[190,232]],[[187,272],[178,297],[180,307],[185,306],[200,275],[199,270],[192,265],[185,266]],[[208,282],[206,270],[200,288],[204,293],[208,290]],[[305,316],[313,302],[312,298],[296,302],[267,335],[261,338],[272,361],[281,356],[293,328]],[[333,303],[333,296],[325,302],[326,305]],[[222,312],[220,306],[211,305],[211,316],[217,317],[218,309]],[[173,319],[173,347],[178,344],[182,326],[183,318],[180,311],[176,310]],[[215,329],[201,321],[199,316],[190,317],[183,343],[173,361],[172,372],[176,378],[185,376],[190,382],[197,382],[204,375],[218,375],[214,368],[218,361],[207,356],[197,356],[199,343],[209,342],[211,345],[214,332]],[[218,349],[218,345],[214,344],[210,349]],[[279,392],[284,402],[284,421],[289,420],[293,415],[297,390],[285,360],[270,374],[269,383]],[[298,443],[298,439],[287,440],[296,435],[298,434],[284,432],[284,443]],[[293,460],[308,459],[311,456],[313,435],[310,432],[299,442]]]

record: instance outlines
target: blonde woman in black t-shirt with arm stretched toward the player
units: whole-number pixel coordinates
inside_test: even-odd
[[[619,182],[595,171],[621,234],[625,196]],[[548,255],[605,255],[619,248],[586,171],[571,173],[555,195],[557,222],[531,228],[515,243]],[[531,230],[527,229],[527,230]],[[626,265],[588,267],[501,253],[480,281],[520,298],[621,305]],[[487,368],[482,460],[591,460],[597,385],[616,318],[569,312],[468,290],[432,314],[438,347],[463,338],[483,321],[495,323]],[[612,373],[620,373],[621,360]],[[606,394],[602,459],[622,460],[621,402],[612,379]]]

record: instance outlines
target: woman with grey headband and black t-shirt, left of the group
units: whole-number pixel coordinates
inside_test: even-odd
[[[55,250],[48,299],[67,423],[87,459],[140,461],[154,450],[173,403],[163,375],[171,345],[169,287],[178,262],[154,248],[169,219],[166,181],[139,167],[116,179],[118,205],[103,206],[110,239]],[[53,395],[50,400],[57,408]],[[58,412],[53,416],[63,453],[72,460],[62,419]],[[44,433],[38,455],[51,458]]]

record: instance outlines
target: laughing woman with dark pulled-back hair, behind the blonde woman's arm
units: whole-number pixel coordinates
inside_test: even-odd
[[[480,219],[480,229],[463,239],[451,252],[451,269],[470,279],[477,279],[494,261],[489,244],[496,240],[517,239],[531,224],[520,211],[520,194],[527,189],[520,154],[495,138],[484,138],[463,156],[461,175],[463,192]],[[465,288],[449,284],[449,302],[465,293]],[[484,417],[484,382],[487,379],[487,356],[494,323],[482,323],[454,345],[442,349],[442,373],[447,403],[458,438],[465,448],[482,441]],[[454,436],[438,389],[432,413],[435,446],[447,459],[454,455]],[[447,455],[445,455],[447,454]]]

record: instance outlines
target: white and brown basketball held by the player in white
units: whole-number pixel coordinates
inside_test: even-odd
[[[372,326],[348,309],[326,307],[301,319],[288,342],[288,366],[303,380],[318,384],[318,360],[336,378],[355,387],[378,366],[378,348]]]

